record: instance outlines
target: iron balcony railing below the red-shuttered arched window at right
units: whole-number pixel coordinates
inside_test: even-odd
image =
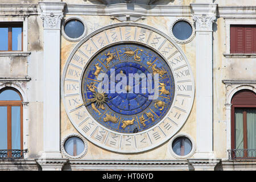
[[[256,149],[228,150],[229,159],[256,159]]]

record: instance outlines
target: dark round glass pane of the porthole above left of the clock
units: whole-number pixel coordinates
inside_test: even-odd
[[[84,24],[79,20],[69,20],[64,27],[65,34],[69,38],[76,39],[84,34]]]

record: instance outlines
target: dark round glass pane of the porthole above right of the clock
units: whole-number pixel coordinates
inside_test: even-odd
[[[180,21],[174,24],[172,33],[179,40],[186,40],[192,35],[192,27],[188,22]]]

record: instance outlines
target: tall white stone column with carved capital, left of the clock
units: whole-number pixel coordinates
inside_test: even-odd
[[[44,26],[44,151],[42,158],[60,153],[60,25],[65,3],[39,2]]]

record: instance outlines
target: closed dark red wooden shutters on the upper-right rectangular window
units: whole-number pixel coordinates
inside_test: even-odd
[[[230,25],[230,53],[256,53],[256,25]]]

